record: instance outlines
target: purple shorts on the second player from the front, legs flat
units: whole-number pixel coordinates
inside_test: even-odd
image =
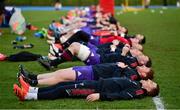
[[[94,80],[92,66],[75,66],[72,68],[76,71],[76,80]]]

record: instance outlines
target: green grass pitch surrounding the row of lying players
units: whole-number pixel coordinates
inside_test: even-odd
[[[163,10],[163,14],[160,11]],[[117,10],[116,18],[129,29],[130,34],[144,34],[147,42],[144,45],[144,53],[152,59],[155,71],[155,81],[160,85],[160,96],[164,101],[165,108],[180,108],[180,9],[155,9],[141,12],[129,12],[120,14]],[[52,20],[58,20],[65,12],[59,11],[25,11],[23,15],[27,22],[39,28],[48,27]],[[24,36],[27,40],[18,44],[33,43],[32,49],[24,49],[33,53],[47,55],[48,45],[45,39],[33,36],[33,31],[26,31]],[[11,41],[17,35],[12,34],[9,29],[3,29],[0,36],[0,53],[7,55],[15,54],[22,50],[13,49]],[[84,99],[58,99],[49,101],[25,101],[21,102],[13,94],[13,83],[17,83],[16,73],[18,65],[23,64],[25,68],[36,74],[46,71],[37,62],[0,62],[0,108],[1,109],[155,109],[151,97],[141,100],[92,102]],[[73,65],[82,65],[81,62],[69,62],[58,68],[66,68]]]

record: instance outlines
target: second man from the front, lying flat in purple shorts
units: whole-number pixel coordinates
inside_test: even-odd
[[[100,78],[128,77],[131,80],[152,79],[153,71],[145,66],[132,69],[122,62],[104,63],[92,66],[74,66],[45,74],[30,74],[20,66],[19,75],[32,86],[55,85],[60,82],[99,80]]]

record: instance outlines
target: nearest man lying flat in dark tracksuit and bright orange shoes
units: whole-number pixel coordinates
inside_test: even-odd
[[[31,87],[22,77],[21,87],[14,84],[14,93],[19,100],[54,100],[60,98],[86,97],[87,101],[127,100],[156,96],[159,86],[151,80],[132,81],[128,78],[108,78],[99,81],[74,81],[49,87]]]

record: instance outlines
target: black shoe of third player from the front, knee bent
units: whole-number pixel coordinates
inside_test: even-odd
[[[50,60],[45,60],[42,57],[38,58],[38,62],[47,70],[51,70],[53,66],[50,65]]]

